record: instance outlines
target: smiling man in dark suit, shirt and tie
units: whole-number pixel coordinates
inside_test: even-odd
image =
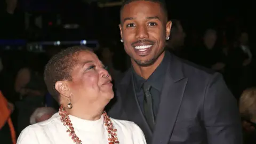
[[[147,143],[242,143],[237,103],[222,76],[164,51],[171,25],[161,1],[123,4],[121,42],[132,67],[109,115],[138,124]]]

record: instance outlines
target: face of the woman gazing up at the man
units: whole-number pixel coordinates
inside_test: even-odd
[[[111,76],[93,52],[79,52],[71,76],[67,85],[73,107],[105,107],[114,97]]]

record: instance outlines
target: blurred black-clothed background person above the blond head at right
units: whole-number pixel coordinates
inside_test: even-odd
[[[246,31],[238,35],[237,45],[231,47],[228,55],[230,79],[235,96],[239,99],[242,92],[253,86],[253,53],[249,46],[249,36]]]

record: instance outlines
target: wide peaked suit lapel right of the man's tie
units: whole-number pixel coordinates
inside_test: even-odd
[[[173,58],[166,69],[152,143],[168,143],[173,132],[187,78],[182,73],[182,63]]]

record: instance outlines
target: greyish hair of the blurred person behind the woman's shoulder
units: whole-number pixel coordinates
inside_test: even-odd
[[[45,114],[54,114],[54,113],[57,113],[57,110],[55,110],[52,107],[39,107],[30,116],[30,124],[35,124],[36,119],[42,117]]]

